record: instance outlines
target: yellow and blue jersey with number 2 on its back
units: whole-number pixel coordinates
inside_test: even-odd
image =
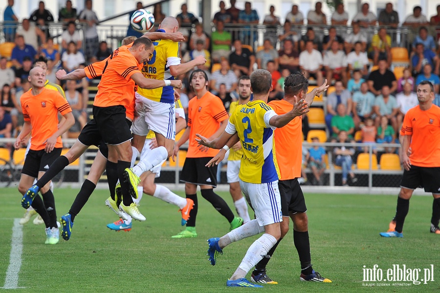
[[[278,168],[273,129],[269,120],[276,116],[263,101],[250,101],[238,105],[229,118],[225,131],[237,132],[242,143],[243,155],[239,177],[248,183],[268,183],[278,180]]]

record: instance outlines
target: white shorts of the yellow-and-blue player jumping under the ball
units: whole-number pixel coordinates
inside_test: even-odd
[[[137,92],[136,115],[132,132],[136,135],[147,135],[150,130],[162,134],[167,139],[176,139],[175,104],[160,103],[147,99]]]

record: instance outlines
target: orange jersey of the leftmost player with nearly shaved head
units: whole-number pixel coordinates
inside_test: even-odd
[[[24,121],[29,121],[32,125],[30,146],[32,150],[44,149],[43,143],[46,139],[57,132],[58,112],[66,115],[72,111],[69,103],[58,91],[47,88],[43,88],[36,96],[32,95],[31,90],[25,92],[20,98],[20,103]],[[55,147],[63,147],[61,137],[57,138]]]

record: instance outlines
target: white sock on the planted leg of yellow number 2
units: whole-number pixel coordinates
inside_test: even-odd
[[[243,278],[252,268],[263,259],[263,256],[277,243],[277,239],[270,234],[264,233],[260,238],[254,241],[249,249],[246,251],[239,269],[244,271],[244,275],[236,275],[234,279]],[[241,274],[240,272],[238,272]]]

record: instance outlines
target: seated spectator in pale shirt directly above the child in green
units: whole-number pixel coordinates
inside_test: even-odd
[[[397,100],[391,95],[390,87],[388,85],[384,85],[381,92],[382,94],[378,95],[374,100],[376,127],[379,126],[381,117],[386,116],[390,121],[391,126],[397,131],[397,113],[399,111]]]

